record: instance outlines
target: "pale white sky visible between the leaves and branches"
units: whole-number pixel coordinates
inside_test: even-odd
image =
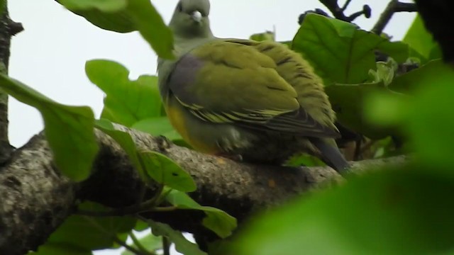
[[[170,21],[177,1],[152,2],[165,21]],[[368,30],[387,3],[353,0],[347,13],[369,4],[372,17],[355,21]],[[221,38],[248,38],[275,26],[277,40],[291,40],[299,27],[299,14],[314,8],[327,11],[316,0],[212,0],[211,29]],[[53,0],[12,0],[9,10],[13,21],[23,23],[25,28],[12,40],[9,75],[55,101],[90,106],[99,116],[103,94],[84,74],[87,60],[103,58],[121,62],[131,70],[133,79],[140,74],[156,73],[157,57],[138,33],[101,30]],[[395,40],[402,39],[414,16],[414,13],[395,14],[384,32],[393,35]],[[38,111],[13,98],[9,104],[9,120],[11,144],[16,147],[43,129]]]

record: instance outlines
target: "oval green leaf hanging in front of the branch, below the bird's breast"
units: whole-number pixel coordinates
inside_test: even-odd
[[[159,152],[138,152],[140,163],[148,176],[162,185],[175,188],[178,191],[190,192],[196,190],[196,183],[191,175],[181,166]]]

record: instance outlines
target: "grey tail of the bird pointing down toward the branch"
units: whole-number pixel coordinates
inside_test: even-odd
[[[320,138],[311,139],[311,142],[321,152],[323,162],[338,171],[339,174],[343,175],[347,173],[350,164],[345,160],[334,140],[333,145],[330,145],[329,142]]]

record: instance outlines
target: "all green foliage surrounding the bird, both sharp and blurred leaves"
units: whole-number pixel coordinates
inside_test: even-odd
[[[157,55],[173,57],[170,29],[148,0],[58,2],[99,28],[139,31]],[[251,38],[275,40],[270,32]],[[437,60],[440,49],[421,19],[416,18],[403,42],[390,42],[351,23],[308,14],[292,42],[282,43],[301,53],[323,79],[339,123],[369,143],[360,148],[362,157],[382,157],[406,147],[414,152],[414,162],[403,169],[350,176],[341,187],[311,193],[258,215],[230,247],[232,254],[453,252],[454,204],[446,196],[454,192],[454,119],[450,118],[454,71]],[[377,53],[386,55],[386,60],[377,62]],[[399,71],[414,62],[421,67]],[[63,174],[74,181],[89,176],[98,150],[97,128],[121,145],[145,183],[159,186],[161,192],[138,205],[140,210],[201,210],[206,215],[201,224],[219,237],[228,237],[236,219],[192,200],[185,192],[194,191],[195,183],[177,162],[138,148],[116,125],[165,135],[185,145],[162,108],[157,77],[143,75],[131,81],[126,67],[109,60],[88,61],[86,73],[106,94],[101,120],[94,120],[87,107],[56,103],[3,75],[0,88],[42,113],[45,135]],[[319,164],[307,157],[289,164],[301,162]],[[82,203],[79,210],[95,215],[112,212],[94,203]],[[135,238],[134,229],[148,227],[153,235]],[[161,248],[157,236],[170,239],[184,254],[205,254],[181,232],[160,222],[140,221],[135,215],[72,215],[34,254],[92,254],[94,249],[116,248],[127,237],[133,239],[133,248],[156,254]]]

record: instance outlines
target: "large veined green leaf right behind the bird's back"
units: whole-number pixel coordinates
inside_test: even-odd
[[[325,86],[367,81],[369,70],[376,69],[375,50],[389,54],[397,62],[404,62],[409,54],[401,42],[389,42],[351,23],[313,13],[304,18],[292,50],[304,55]]]

